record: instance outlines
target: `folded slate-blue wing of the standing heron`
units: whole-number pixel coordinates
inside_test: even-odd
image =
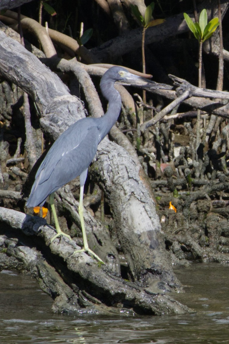
[[[79,123],[80,122],[80,123]],[[26,205],[44,204],[46,198],[85,171],[93,160],[99,131],[93,121],[78,121],[53,144],[39,167]]]

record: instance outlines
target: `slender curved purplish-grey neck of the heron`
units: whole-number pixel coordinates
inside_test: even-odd
[[[108,100],[108,109],[103,117],[99,121],[99,129],[101,131],[100,141],[111,130],[116,120],[118,119],[122,101],[119,92],[114,88],[114,82],[106,84],[100,84],[102,94]]]

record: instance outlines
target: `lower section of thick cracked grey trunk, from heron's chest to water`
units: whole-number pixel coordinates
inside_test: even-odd
[[[106,140],[98,148],[90,173],[111,204],[118,241],[133,278],[152,289],[179,289],[164,250],[155,204],[134,160],[122,147]]]

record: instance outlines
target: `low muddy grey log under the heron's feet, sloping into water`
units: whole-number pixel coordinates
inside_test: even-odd
[[[55,311],[82,314],[87,308],[90,313],[136,312],[149,315],[189,311],[167,295],[152,293],[150,288],[111,275],[105,266],[99,266],[84,252],[73,254],[79,246],[68,238],[62,238],[58,245],[53,242],[48,251],[43,250],[42,255],[38,249],[32,248],[35,241],[33,236],[36,236],[38,243],[45,241],[48,245],[54,230],[46,226],[41,218],[0,207],[0,221],[2,227],[11,229],[10,238],[7,235],[0,236],[0,247],[33,273],[41,288],[55,300]],[[25,238],[27,245],[22,245],[21,232],[32,238],[30,244]]]

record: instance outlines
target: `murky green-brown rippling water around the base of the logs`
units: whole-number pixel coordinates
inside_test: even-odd
[[[0,273],[0,343],[229,343],[229,267],[176,269],[186,293],[176,299],[196,312],[182,316],[102,317],[53,314],[30,275]]]

